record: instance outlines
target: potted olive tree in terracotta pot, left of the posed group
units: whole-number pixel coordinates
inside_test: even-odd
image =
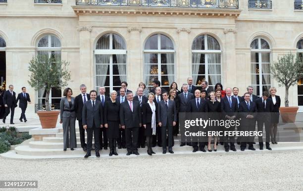
[[[67,86],[70,80],[69,63],[55,61],[48,55],[33,57],[29,62],[28,70],[31,72],[28,81],[35,91],[45,89],[45,111],[37,111],[42,128],[55,128],[59,111],[51,111],[50,90]]]

